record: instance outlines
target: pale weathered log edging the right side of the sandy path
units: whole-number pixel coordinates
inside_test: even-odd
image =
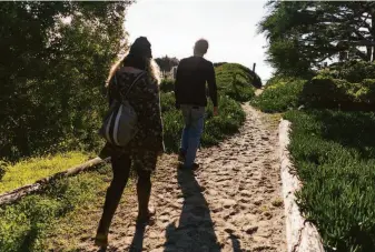
[[[322,238],[316,226],[302,215],[295,193],[302,189],[302,182],[293,174],[293,163],[288,145],[292,123],[282,119],[279,133],[279,158],[283,183],[283,199],[286,216],[286,240],[288,252],[324,252]]]

